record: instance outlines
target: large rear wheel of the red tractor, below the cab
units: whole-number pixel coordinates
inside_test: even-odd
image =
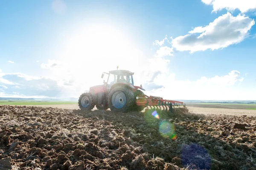
[[[116,87],[108,95],[111,111],[128,112],[133,108],[134,103],[134,93],[128,87]]]

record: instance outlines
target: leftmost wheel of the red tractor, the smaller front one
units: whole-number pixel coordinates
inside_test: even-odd
[[[93,96],[90,92],[85,92],[80,95],[78,105],[81,110],[91,110],[94,108],[95,104],[93,103]]]

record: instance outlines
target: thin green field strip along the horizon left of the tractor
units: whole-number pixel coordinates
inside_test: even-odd
[[[76,101],[0,101],[0,105],[77,104]]]

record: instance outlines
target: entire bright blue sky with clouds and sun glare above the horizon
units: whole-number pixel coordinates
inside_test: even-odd
[[[253,0],[1,0],[0,97],[78,98],[119,66],[146,95],[256,100],[255,20]]]

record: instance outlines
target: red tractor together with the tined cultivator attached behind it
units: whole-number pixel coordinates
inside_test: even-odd
[[[181,101],[164,100],[156,96],[147,96],[141,90],[143,87],[134,86],[133,72],[128,70],[113,70],[102,73],[102,78],[108,74],[108,81],[103,85],[92,86],[88,92],[79,97],[81,110],[108,109],[116,112],[142,111],[145,107],[159,107],[172,111],[172,107],[185,104]]]

